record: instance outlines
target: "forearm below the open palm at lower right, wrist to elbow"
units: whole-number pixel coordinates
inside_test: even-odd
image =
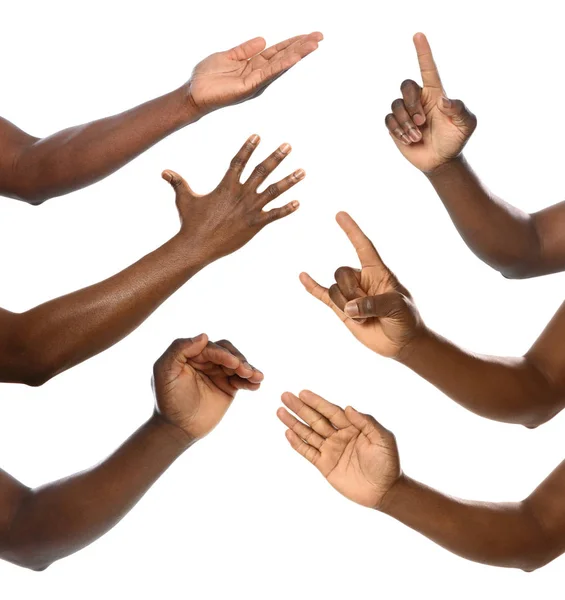
[[[380,510],[476,562],[531,571],[556,556],[553,542],[524,502],[459,500],[402,476]]]

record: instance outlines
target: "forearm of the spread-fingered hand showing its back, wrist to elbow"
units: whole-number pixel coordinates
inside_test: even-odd
[[[206,265],[182,234],[98,284],[16,315],[0,378],[40,385],[112,346]]]

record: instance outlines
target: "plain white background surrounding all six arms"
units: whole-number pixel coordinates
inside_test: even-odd
[[[565,415],[529,431],[480,419],[371,354],[298,281],[355,256],[346,209],[427,323],[475,351],[518,355],[559,306],[564,275],[506,281],[459,239],[383,125],[411,36],[428,34],[448,93],[479,118],[466,152],[488,185],[534,211],[562,199],[564,84],[557,3],[2,2],[0,114],[43,136],[130,108],[196,62],[256,35],[320,30],[320,49],[261,98],[175,134],[105,181],[39,208],[0,200],[1,303],[25,310],[103,279],[176,231],[161,170],[214,187],[251,133],[256,159],[294,147],[300,210],[200,273],[136,332],[42,388],[3,385],[1,466],[40,485],[96,463],[152,410],[151,367],[178,336],[226,337],[262,368],[213,434],[114,530],[43,573],[0,564],[0,597],[532,598],[562,596],[563,561],[532,574],[473,564],[339,496],[284,438],[285,390],[310,388],[392,429],[411,476],[481,500],[526,496],[563,458]],[[282,202],[282,201],[281,201]]]

